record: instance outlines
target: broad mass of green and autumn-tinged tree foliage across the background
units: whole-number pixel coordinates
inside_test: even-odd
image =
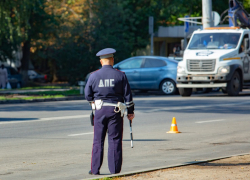
[[[249,1],[243,2],[250,10]],[[221,14],[228,0],[213,0]],[[250,12],[250,11],[249,11]],[[29,60],[53,81],[76,83],[100,67],[96,53],[117,50],[115,62],[136,55],[149,44],[148,17],[159,26],[183,25],[179,17],[202,16],[201,0],[1,0],[0,60],[23,49]]]

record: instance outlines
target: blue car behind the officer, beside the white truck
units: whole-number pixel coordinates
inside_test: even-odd
[[[160,90],[164,94],[177,93],[178,61],[161,56],[136,56],[114,65],[125,72],[132,90]],[[86,77],[86,81],[89,74]]]

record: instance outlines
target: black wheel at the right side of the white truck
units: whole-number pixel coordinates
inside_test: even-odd
[[[236,71],[232,79],[227,83],[227,93],[229,96],[237,96],[240,92],[240,75]]]

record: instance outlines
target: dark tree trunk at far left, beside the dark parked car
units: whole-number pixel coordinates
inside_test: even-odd
[[[29,62],[30,62],[30,40],[27,40],[23,46],[23,57],[21,59],[21,74],[23,76],[23,86],[27,85],[29,77]]]

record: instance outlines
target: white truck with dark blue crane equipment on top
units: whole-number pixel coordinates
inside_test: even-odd
[[[250,30],[246,28],[250,18],[237,0],[230,2],[231,27],[210,27],[193,33],[177,67],[181,96],[190,96],[193,88],[222,88],[224,93],[236,96],[250,85]],[[244,27],[236,26],[237,22]]]

